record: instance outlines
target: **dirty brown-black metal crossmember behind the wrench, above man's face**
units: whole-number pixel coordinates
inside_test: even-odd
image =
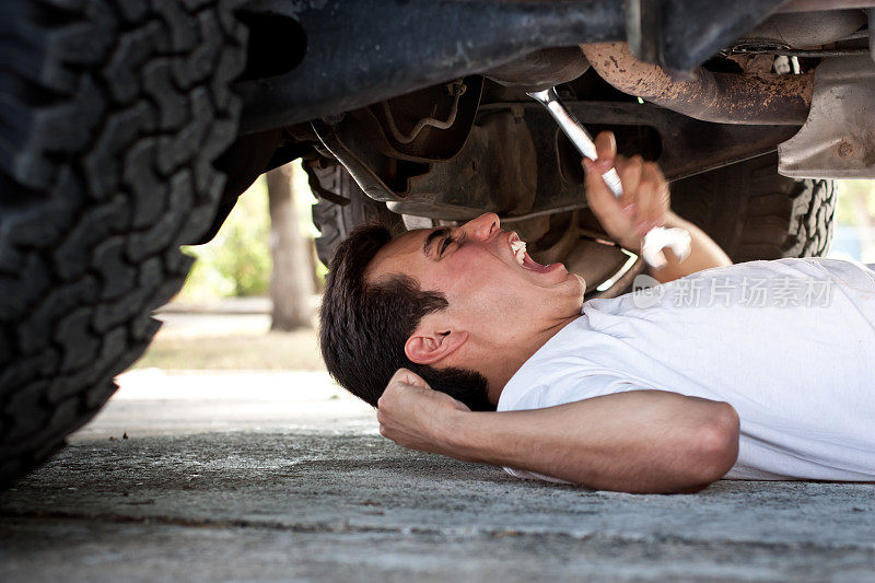
[[[565,105],[590,129],[615,131],[621,153],[643,151],[645,159],[658,162],[669,179],[774,151],[798,129],[709,124],[650,104]],[[395,184],[381,172],[388,159],[372,147],[360,116],[314,120],[313,127],[364,193],[400,214],[467,220],[491,211],[521,219],[586,206],[580,155],[534,102],[482,104],[478,124],[456,155],[433,161],[429,172]],[[642,129],[650,131],[642,137]],[[657,145],[644,151],[650,144],[642,138],[651,137]]]

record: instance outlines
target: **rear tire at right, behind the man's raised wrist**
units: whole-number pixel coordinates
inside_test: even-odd
[[[674,183],[672,207],[735,263],[817,257],[832,241],[836,188],[779,175],[772,153]]]

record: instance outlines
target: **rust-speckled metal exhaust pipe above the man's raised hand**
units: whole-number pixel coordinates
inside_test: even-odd
[[[632,56],[626,43],[581,45],[608,83],[679,114],[720,124],[801,126],[812,105],[812,75],[713,73],[702,68],[689,81]]]

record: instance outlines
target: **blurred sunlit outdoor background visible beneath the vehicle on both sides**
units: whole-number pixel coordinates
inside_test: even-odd
[[[838,180],[828,256],[875,263],[875,180]],[[320,371],[315,315],[326,269],[313,244],[316,202],[298,163],[261,176],[197,261],[135,369]]]

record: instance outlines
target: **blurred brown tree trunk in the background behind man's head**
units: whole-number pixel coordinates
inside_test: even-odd
[[[310,242],[300,229],[295,207],[293,166],[285,164],[267,173],[270,201],[270,299],[273,302],[270,329],[293,330],[312,326]]]

